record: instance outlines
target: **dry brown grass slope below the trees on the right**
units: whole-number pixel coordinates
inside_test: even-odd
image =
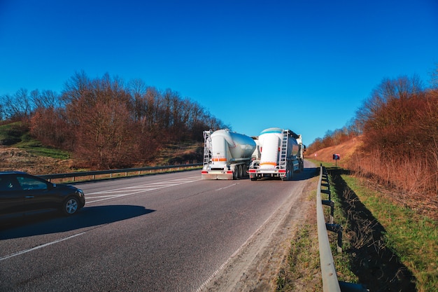
[[[425,180],[437,174],[428,173],[427,167],[408,159],[382,162],[379,151],[374,155],[364,155],[360,152],[362,137],[346,141],[337,146],[320,149],[309,153],[307,158],[321,162],[334,163],[332,155],[339,153],[339,167],[352,170],[356,176],[361,176],[368,182],[369,188],[379,190],[395,204],[409,207],[418,214],[425,214],[438,220],[438,195],[424,186]],[[363,149],[362,149],[363,151]],[[433,187],[433,186],[432,186]]]

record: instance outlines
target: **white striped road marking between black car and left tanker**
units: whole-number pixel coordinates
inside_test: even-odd
[[[87,198],[87,204],[94,202],[100,202],[104,200],[110,200],[116,197],[125,197],[127,195],[136,195],[138,193],[149,192],[151,190],[158,190],[160,188],[169,188],[171,186],[179,186],[184,183],[192,183],[195,181],[200,181],[199,176],[190,176],[187,179],[174,179],[171,181],[162,181],[155,183],[146,183],[139,186],[127,186],[125,188],[114,188],[111,190],[102,190],[94,193],[87,193],[85,197]]]

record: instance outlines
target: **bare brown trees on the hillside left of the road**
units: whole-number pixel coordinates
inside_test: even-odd
[[[153,160],[169,142],[202,141],[202,131],[228,127],[188,97],[137,79],[74,74],[61,94],[18,90],[0,97],[0,118],[20,120],[33,137],[71,151],[76,165],[132,167]]]

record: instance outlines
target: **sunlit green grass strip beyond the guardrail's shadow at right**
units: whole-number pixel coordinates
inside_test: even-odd
[[[390,202],[369,190],[353,176],[342,175],[373,216],[386,230],[387,247],[416,277],[418,291],[432,292],[438,287],[438,228],[427,216]]]

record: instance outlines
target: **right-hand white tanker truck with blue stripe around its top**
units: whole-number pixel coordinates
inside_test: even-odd
[[[305,146],[301,135],[288,129],[271,127],[263,130],[257,139],[253,161],[248,169],[251,181],[263,177],[292,179],[294,172],[304,169]]]

